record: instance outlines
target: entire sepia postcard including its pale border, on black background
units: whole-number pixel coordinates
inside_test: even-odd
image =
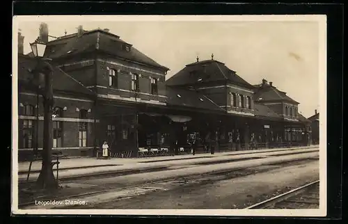
[[[326,216],[326,16],[15,16],[12,122],[13,214]]]

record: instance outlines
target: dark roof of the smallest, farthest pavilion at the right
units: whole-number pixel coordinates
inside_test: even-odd
[[[287,101],[293,104],[299,104],[294,99],[286,95],[285,92],[278,90],[276,87],[268,83],[262,83],[254,86],[255,101]]]

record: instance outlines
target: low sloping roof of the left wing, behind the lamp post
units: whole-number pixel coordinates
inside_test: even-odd
[[[18,81],[20,83],[29,83],[33,77],[31,71],[37,65],[35,58],[29,56],[18,57]],[[79,93],[82,95],[94,95],[92,90],[86,88],[82,83],[66,74],[58,67],[52,66],[54,69],[53,73],[53,89],[58,91],[64,91],[68,93]]]

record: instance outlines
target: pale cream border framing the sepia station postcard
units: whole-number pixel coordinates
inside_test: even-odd
[[[18,209],[18,83],[17,31],[20,22],[40,21],[243,21],[243,22],[318,22],[319,24],[319,209]],[[13,214],[81,214],[81,215],[180,215],[180,216],[326,216],[326,15],[21,15],[13,17],[13,149],[11,210]]]

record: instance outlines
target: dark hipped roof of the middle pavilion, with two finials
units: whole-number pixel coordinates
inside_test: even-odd
[[[253,88],[250,83],[242,79],[224,63],[215,60],[198,61],[186,65],[166,81],[168,86],[185,86],[196,83],[209,83],[213,81],[230,81],[240,86]]]

